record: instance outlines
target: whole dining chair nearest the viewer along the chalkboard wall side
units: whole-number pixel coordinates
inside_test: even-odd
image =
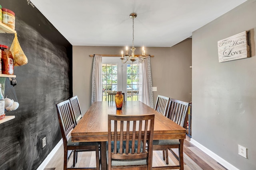
[[[96,152],[96,168],[84,168],[84,169],[96,169],[100,170],[100,156],[99,156],[99,145],[100,142],[72,142],[70,137],[70,132],[75,127],[74,119],[72,117],[72,109],[70,106],[70,100],[65,100],[56,104],[58,119],[60,123],[60,131],[63,140],[64,146],[64,170],[66,169],[74,169],[68,168],[68,150],[76,150],[76,151],[95,151]],[[73,153],[74,160],[76,160],[75,152]],[[73,160],[73,166],[75,166]],[[83,169],[83,168],[79,168]]]

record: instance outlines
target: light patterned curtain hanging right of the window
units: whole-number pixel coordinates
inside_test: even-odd
[[[147,57],[144,63],[140,63],[139,68],[139,101],[154,108],[150,56]]]

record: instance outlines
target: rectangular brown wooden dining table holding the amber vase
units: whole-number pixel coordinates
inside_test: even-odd
[[[125,101],[121,110],[116,109],[114,102],[94,102],[71,132],[72,142],[100,141],[101,166],[102,170],[106,170],[108,114],[142,115],[152,113],[155,115],[153,140],[181,139],[180,145],[183,147],[186,129],[140,101]]]

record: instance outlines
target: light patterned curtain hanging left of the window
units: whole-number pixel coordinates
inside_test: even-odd
[[[102,101],[102,56],[94,55],[92,65],[92,100]]]

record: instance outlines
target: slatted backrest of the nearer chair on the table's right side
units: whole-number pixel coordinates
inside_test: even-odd
[[[177,123],[178,125],[186,128],[186,121],[188,118],[188,102],[183,102],[176,99],[170,99],[170,109],[167,117]]]

